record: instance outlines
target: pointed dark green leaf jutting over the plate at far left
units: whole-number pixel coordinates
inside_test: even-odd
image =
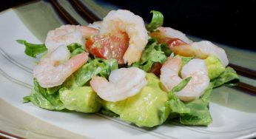
[[[43,52],[47,51],[47,47],[45,47],[44,44],[30,44],[25,40],[16,40],[19,44],[24,44],[25,45],[25,54],[32,57],[36,58],[36,55],[39,55]]]

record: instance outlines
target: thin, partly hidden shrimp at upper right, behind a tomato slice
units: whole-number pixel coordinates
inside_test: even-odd
[[[161,35],[166,37],[179,38],[181,41],[184,41],[187,44],[192,43],[192,41],[187,38],[184,33],[181,33],[181,31],[178,30],[174,30],[171,27],[158,27],[158,30],[160,31]]]

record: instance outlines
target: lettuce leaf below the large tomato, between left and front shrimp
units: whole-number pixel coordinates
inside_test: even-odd
[[[74,73],[75,83],[78,87],[84,86],[95,75],[108,78],[110,72],[114,69],[118,69],[118,63],[115,59],[92,59]]]

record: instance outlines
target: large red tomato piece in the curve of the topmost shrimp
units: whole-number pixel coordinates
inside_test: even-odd
[[[127,33],[118,32],[107,35],[92,35],[85,44],[87,50],[98,58],[116,59],[118,64],[124,64],[124,52],[129,47]]]

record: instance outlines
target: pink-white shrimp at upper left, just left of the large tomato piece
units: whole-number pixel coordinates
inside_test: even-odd
[[[92,27],[63,25],[47,34],[45,46],[48,49],[48,53],[50,53],[61,45],[67,46],[72,43],[84,45],[85,38],[90,35],[96,35],[98,32],[97,29]]]

